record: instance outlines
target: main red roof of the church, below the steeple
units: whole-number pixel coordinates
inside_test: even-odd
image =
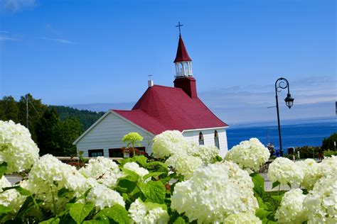
[[[228,126],[200,99],[191,99],[182,89],[149,87],[132,111],[113,110],[154,135],[165,130],[191,130]]]

